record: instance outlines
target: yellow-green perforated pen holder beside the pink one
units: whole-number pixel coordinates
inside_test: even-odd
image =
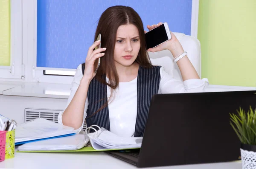
[[[6,132],[5,159],[14,158],[15,152],[15,130]]]

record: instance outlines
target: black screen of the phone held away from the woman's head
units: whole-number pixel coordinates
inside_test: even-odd
[[[154,48],[155,46],[168,40],[168,36],[167,36],[166,28],[165,28],[164,24],[145,33],[145,37],[146,37],[146,49],[147,50],[148,50],[148,48]]]

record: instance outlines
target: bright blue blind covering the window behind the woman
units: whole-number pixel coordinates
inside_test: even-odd
[[[36,76],[42,79],[46,78],[43,77],[45,75],[55,74],[49,70],[74,72],[86,59],[87,49],[93,43],[100,15],[110,6],[125,5],[134,8],[140,14],[145,30],[147,24],[162,21],[167,22],[172,31],[190,35],[195,29],[194,25],[191,25],[194,22],[192,5],[195,2],[198,1],[170,0],[157,3],[155,0],[107,0],[104,4],[99,4],[84,0],[37,0],[34,6],[37,11],[37,48],[33,62]],[[194,32],[197,30],[193,31],[193,34]]]

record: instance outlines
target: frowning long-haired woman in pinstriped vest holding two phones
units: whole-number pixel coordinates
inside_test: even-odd
[[[147,26],[149,30],[161,25]],[[80,132],[84,119],[122,137],[143,136],[151,97],[157,93],[204,92],[207,79],[200,79],[187,56],[177,61],[183,82],[170,76],[163,67],[153,66],[145,47],[145,32],[140,16],[133,8],[113,6],[106,9],[95,33],[99,42],[90,46],[86,61],[79,65],[72,82],[67,107],[58,122]],[[169,41],[148,49],[150,52],[168,49],[174,57],[184,53],[171,32]],[[94,73],[94,62],[101,65]],[[170,65],[171,66],[171,65]]]

